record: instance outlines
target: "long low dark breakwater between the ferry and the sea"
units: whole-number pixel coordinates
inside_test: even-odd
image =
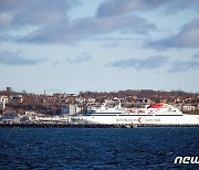
[[[142,128],[142,127],[199,127],[199,125],[179,125],[179,124],[130,124],[130,125],[103,125],[103,124],[0,124],[0,128]]]

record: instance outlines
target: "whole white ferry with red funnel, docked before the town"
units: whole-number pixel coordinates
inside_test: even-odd
[[[184,114],[177,107],[157,103],[145,108],[123,108],[121,102],[113,108],[105,102],[100,108],[87,109],[84,116],[73,116],[76,124],[104,125],[199,125],[199,115]]]

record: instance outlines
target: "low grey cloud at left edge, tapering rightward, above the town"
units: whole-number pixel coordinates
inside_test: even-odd
[[[0,64],[11,66],[38,65],[45,60],[30,60],[8,51],[0,52]]]

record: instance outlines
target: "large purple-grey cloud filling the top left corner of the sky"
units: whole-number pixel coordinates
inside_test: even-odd
[[[75,4],[76,0],[1,0],[0,29],[55,24],[67,20],[66,12]]]

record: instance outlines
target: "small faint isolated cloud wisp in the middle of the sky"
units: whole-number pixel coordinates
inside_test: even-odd
[[[67,63],[71,64],[81,64],[81,63],[86,63],[92,60],[92,56],[87,53],[82,53],[81,55],[76,57],[67,57]]]

